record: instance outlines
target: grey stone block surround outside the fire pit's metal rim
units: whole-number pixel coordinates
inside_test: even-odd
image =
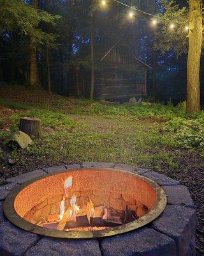
[[[46,173],[75,168],[117,168],[156,181],[168,198],[163,214],[133,232],[101,239],[52,239],[26,232],[6,220],[3,202],[13,188]],[[196,211],[188,189],[165,175],[126,164],[94,163],[54,166],[6,180],[0,186],[0,255],[195,256]]]

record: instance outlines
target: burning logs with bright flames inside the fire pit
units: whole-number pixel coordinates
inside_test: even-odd
[[[105,205],[96,205],[94,207],[91,199],[82,208],[77,205],[77,195],[70,196],[72,183],[72,176],[69,176],[63,182],[64,196],[59,204],[59,214],[48,215],[47,220],[44,219],[44,223],[41,221],[39,225],[55,230],[96,231],[124,223],[127,218],[125,214],[128,214],[126,213],[128,210],[123,213],[124,217],[122,217],[121,212],[117,212]],[[69,206],[66,207],[66,202],[70,197]],[[132,212],[129,214],[132,216]]]

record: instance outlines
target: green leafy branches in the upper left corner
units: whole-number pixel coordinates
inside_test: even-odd
[[[56,36],[38,28],[40,22],[54,26],[59,15],[52,15],[43,10],[36,10],[23,0],[1,0],[0,35],[17,31],[20,35],[31,38],[33,42],[54,47]]]

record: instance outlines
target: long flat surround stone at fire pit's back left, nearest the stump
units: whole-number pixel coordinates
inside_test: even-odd
[[[28,180],[32,180],[32,179],[40,177],[42,175],[46,175],[46,173],[43,172],[43,170],[35,170],[33,172],[24,173],[24,174],[18,175],[16,177],[6,179],[6,182],[22,184]]]

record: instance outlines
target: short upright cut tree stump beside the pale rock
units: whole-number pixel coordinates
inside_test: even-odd
[[[27,135],[34,136],[36,138],[40,135],[40,130],[40,119],[32,119],[29,117],[20,118],[19,131],[25,132]]]

